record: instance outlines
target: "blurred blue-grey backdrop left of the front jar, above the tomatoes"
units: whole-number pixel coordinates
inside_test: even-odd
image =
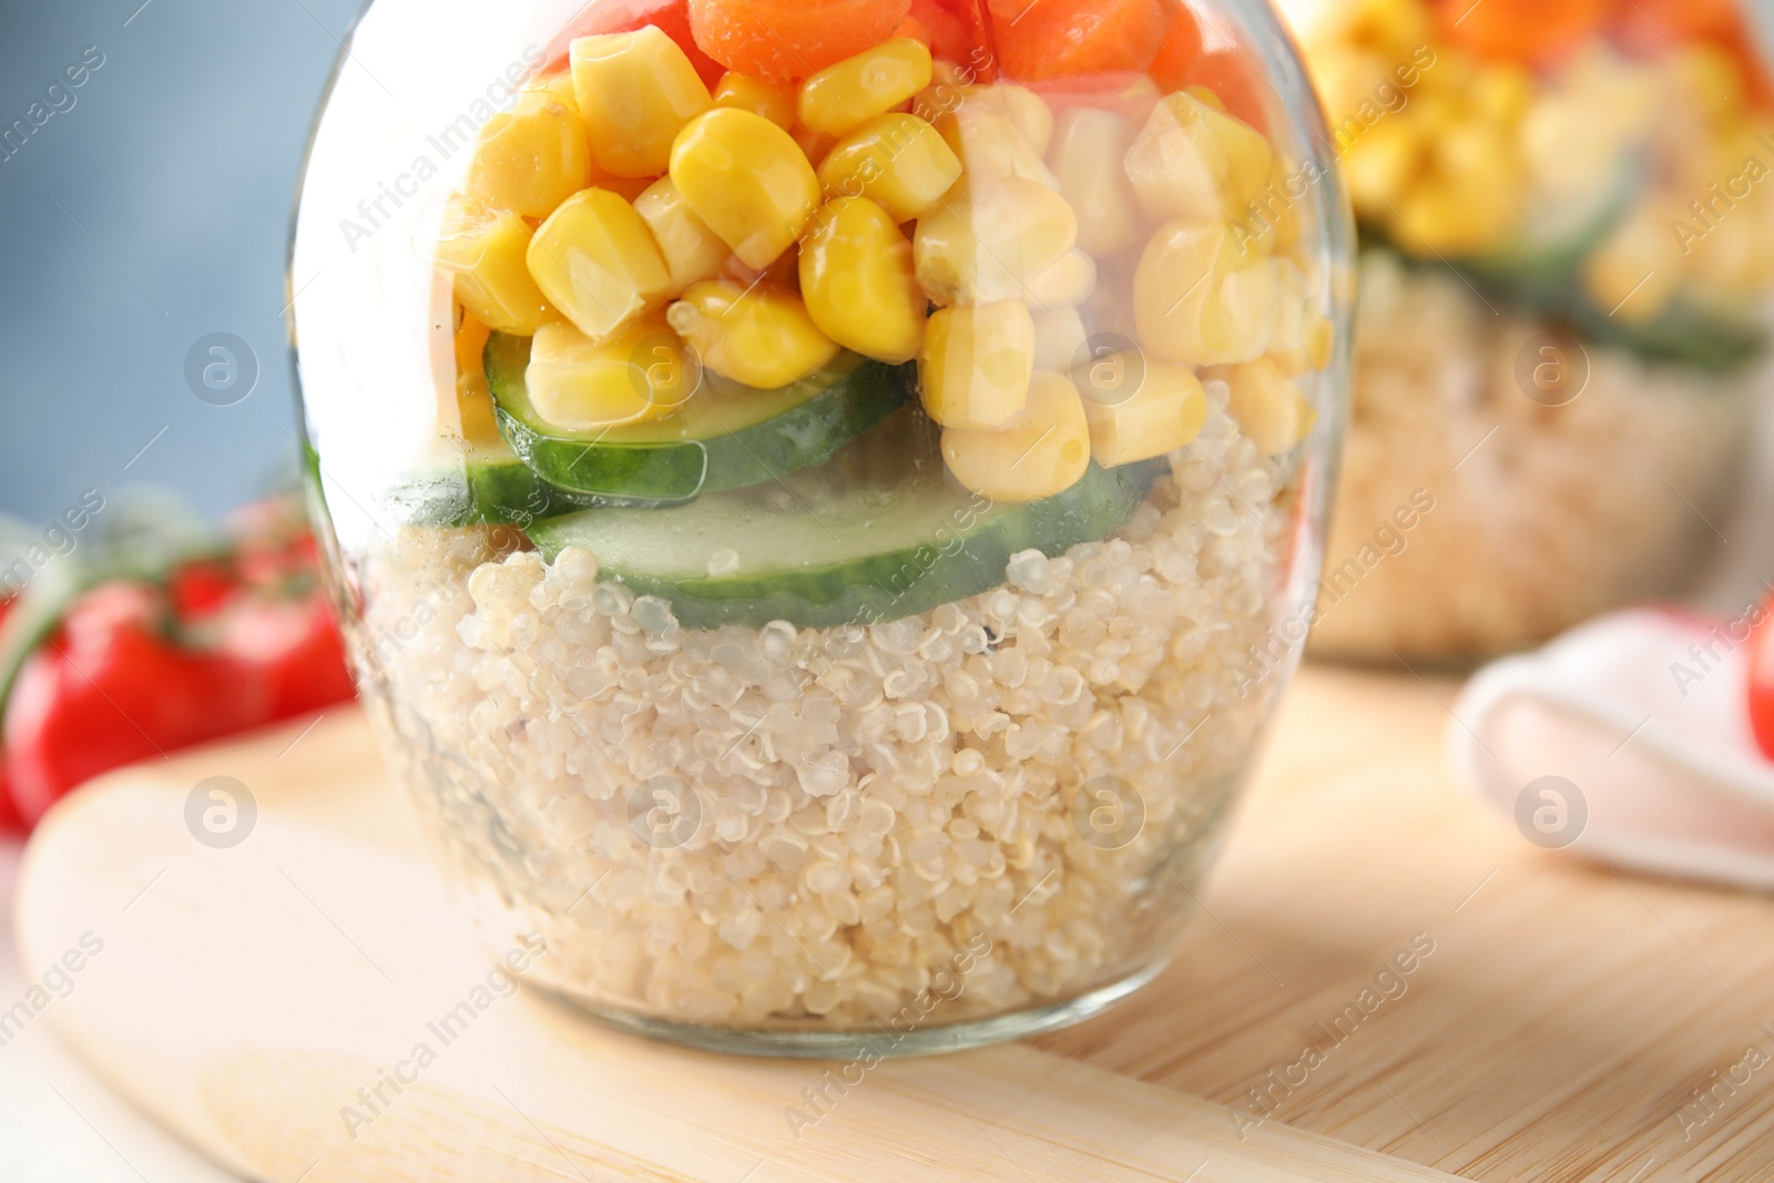
[[[48,521],[82,490],[156,482],[216,514],[293,477],[289,211],[358,7],[0,0],[0,128],[87,46],[105,55],[0,161],[0,513]],[[257,355],[234,406],[184,380],[215,332]]]

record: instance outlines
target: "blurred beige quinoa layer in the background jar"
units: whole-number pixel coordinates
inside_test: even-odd
[[[1542,406],[1519,358],[1543,330],[1451,273],[1362,257],[1313,653],[1481,658],[1698,578],[1742,472],[1753,381],[1591,342],[1582,394]],[[1433,509],[1375,560],[1419,491]]]

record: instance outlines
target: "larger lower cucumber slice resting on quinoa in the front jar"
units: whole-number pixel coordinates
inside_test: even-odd
[[[530,539],[550,559],[585,546],[687,628],[873,624],[1001,585],[1017,552],[1107,536],[1166,470],[1093,463],[1057,497],[995,505],[947,475],[930,420],[908,408],[823,468],[688,505],[539,521]]]

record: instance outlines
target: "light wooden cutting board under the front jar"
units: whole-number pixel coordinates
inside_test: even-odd
[[[1307,670],[1169,972],[827,1089],[798,1137],[825,1064],[529,991],[444,1045],[486,967],[349,711],[71,798],[27,857],[21,952],[80,965],[39,999],[76,1052],[268,1183],[1774,1178],[1774,903],[1529,846],[1444,768],[1453,697]],[[236,848],[186,830],[208,777],[257,802]]]

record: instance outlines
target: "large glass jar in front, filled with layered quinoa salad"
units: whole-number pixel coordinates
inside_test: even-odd
[[[1322,138],[1247,0],[371,4],[296,362],[365,706],[490,951],[789,1055],[1157,974],[1318,578]]]

